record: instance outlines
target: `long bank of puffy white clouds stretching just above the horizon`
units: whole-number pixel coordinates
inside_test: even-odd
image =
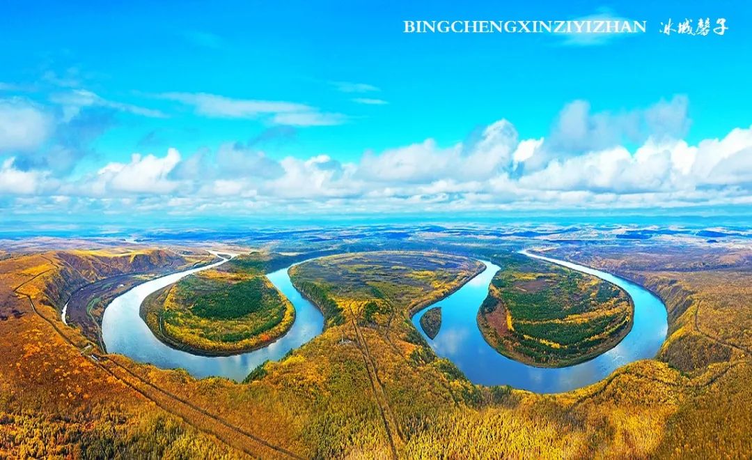
[[[690,145],[679,139],[688,123],[687,101],[681,96],[615,113],[593,112],[587,102],[576,101],[562,109],[547,136],[537,139],[521,138],[502,119],[463,142],[441,145],[429,138],[366,151],[352,163],[326,154],[269,157],[259,150],[262,142],[252,139],[187,157],[174,149],[161,157],[136,154],[128,163],[109,163],[57,188],[44,175],[24,176],[15,159],[4,163],[2,177],[8,183],[28,179],[37,185],[3,190],[44,189],[56,196],[98,200],[98,206],[114,196],[137,196],[134,206],[140,209],[173,203],[171,212],[186,213],[752,204],[752,126]],[[282,135],[287,136],[287,129]],[[276,139],[277,133],[268,136]]]

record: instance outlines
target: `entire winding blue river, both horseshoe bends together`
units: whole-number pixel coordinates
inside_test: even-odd
[[[499,355],[486,343],[478,329],[478,308],[488,294],[491,279],[499,267],[483,261],[486,269],[462,288],[417,312],[412,321],[435,352],[449,358],[472,382],[482,385],[511,385],[540,393],[569,391],[598,382],[617,367],[644,358],[652,358],[666,339],[668,328],[666,308],[663,303],[644,288],[609,273],[555,260],[523,251],[529,257],[547,260],[583,273],[590,273],[623,288],[635,304],[632,331],[608,352],[570,367],[542,368],[529,366]],[[162,276],[132,288],[116,297],[105,309],[102,318],[102,339],[107,351],[129,356],[136,361],[148,362],[158,367],[181,367],[196,377],[225,376],[242,380],[250,370],[266,360],[278,360],[291,349],[321,334],[323,316],[320,311],[293,287],[287,268],[268,274],[268,279],[293,303],[296,320],[290,331],[274,343],[253,352],[233,356],[208,357],[192,355],[172,349],[160,342],[139,316],[141,302],[152,292],[177,280],[223,264],[224,259],[206,267]],[[441,306],[442,324],[438,335],[429,339],[419,321],[423,313],[433,306]]]

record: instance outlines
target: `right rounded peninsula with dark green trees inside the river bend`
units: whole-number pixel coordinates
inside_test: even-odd
[[[500,265],[478,327],[502,355],[569,366],[613,348],[632,328],[632,302],[611,283],[521,254]]]

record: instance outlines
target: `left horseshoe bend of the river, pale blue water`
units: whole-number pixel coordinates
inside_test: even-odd
[[[220,262],[221,264],[221,262]],[[138,315],[141,302],[154,291],[164,288],[184,276],[199,270],[216,267],[213,264],[201,269],[186,270],[145,282],[115,298],[105,309],[102,318],[102,339],[110,353],[120,353],[135,361],[171,369],[182,367],[196,377],[224,376],[242,380],[250,370],[262,362],[282,358],[291,349],[313,339],[323,331],[323,316],[293,287],[287,269],[268,274],[268,279],[290,299],[296,309],[293,327],[283,337],[262,349],[233,356],[198,356],[172,349],[160,342]]]

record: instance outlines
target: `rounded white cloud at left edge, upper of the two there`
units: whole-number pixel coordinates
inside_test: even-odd
[[[52,117],[23,99],[0,99],[0,153],[30,151],[53,131]]]

